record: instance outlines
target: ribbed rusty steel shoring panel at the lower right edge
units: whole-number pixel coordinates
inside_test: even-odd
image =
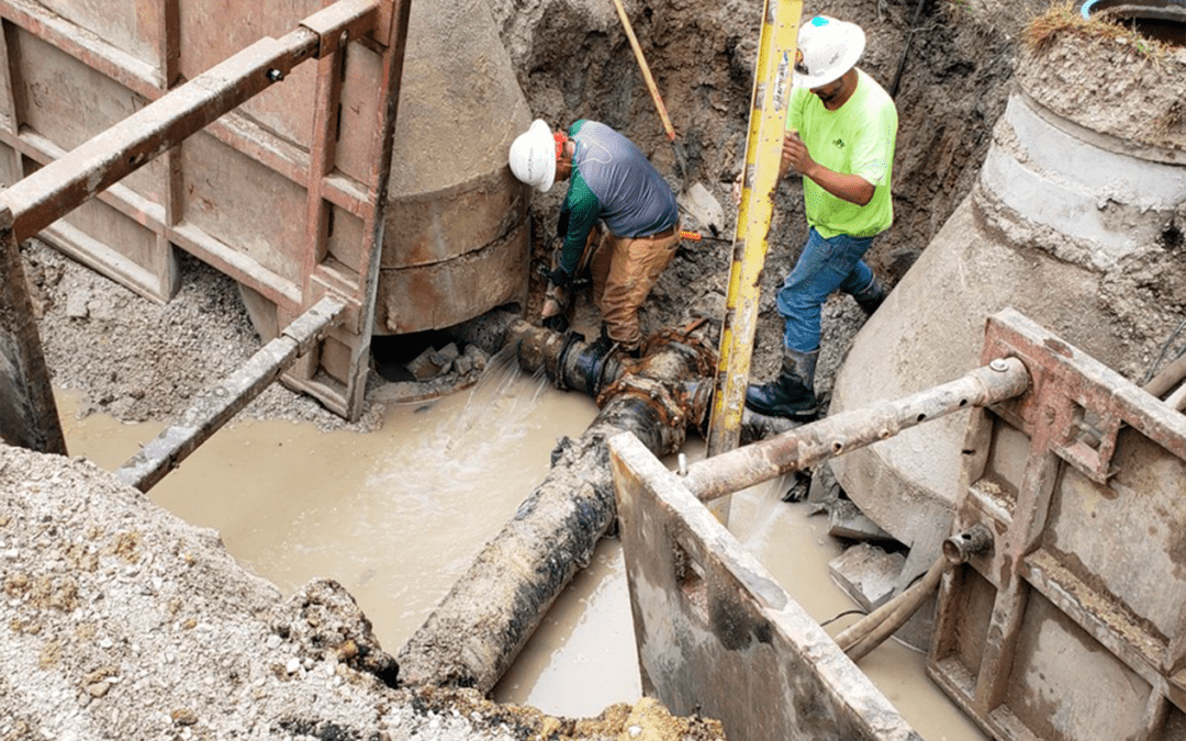
[[[954,528],[984,526],[995,545],[944,577],[929,673],[996,739],[1181,737],[1186,619],[1166,615],[1186,614],[1186,574],[1173,575],[1182,568],[1181,554],[1161,551],[1153,535],[1167,534],[1160,537],[1168,550],[1174,541],[1182,550],[1186,515],[1174,503],[1186,493],[1186,417],[1012,311],[990,318],[983,353],[1021,359],[1033,388],[974,413],[969,423]],[[1013,455],[994,452],[1007,445]],[[1149,471],[1122,471],[1121,451],[1126,460],[1146,460],[1140,452],[1155,462]],[[1013,460],[1019,456],[1022,462]],[[1114,484],[1122,474],[1127,483]],[[1077,518],[1086,507],[1091,524],[1084,534]],[[1091,541],[1091,552],[1076,548],[1079,538]],[[1059,681],[1051,669],[1061,664],[1038,664],[1024,649],[1056,635],[1083,646],[1078,660],[1067,652],[1073,669]],[[1102,662],[1101,671],[1137,688],[1131,702],[1096,689],[1098,677],[1075,684],[1076,671],[1090,671],[1083,665],[1089,654]],[[1076,703],[1033,690],[1047,683],[1054,692],[1059,682],[1089,697]],[[1018,692],[1027,695],[1019,700]],[[1117,724],[1123,717],[1128,726],[1088,729],[1073,720],[1092,713]]]

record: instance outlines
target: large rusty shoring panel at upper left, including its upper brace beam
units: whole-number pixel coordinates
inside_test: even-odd
[[[306,11],[256,40],[185,0],[0,0],[0,206],[9,238],[42,232],[157,301],[177,292],[178,248],[279,326],[342,299],[283,381],[356,419],[410,0],[324,5],[251,4],[278,34]]]

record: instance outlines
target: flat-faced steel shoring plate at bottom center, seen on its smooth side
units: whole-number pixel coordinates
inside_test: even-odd
[[[675,472],[610,453],[644,694],[731,741],[922,741]]]

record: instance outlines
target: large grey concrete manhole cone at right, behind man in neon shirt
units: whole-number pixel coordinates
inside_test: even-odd
[[[1108,64],[1117,52],[1093,43],[1064,38],[1019,64],[977,185],[855,338],[830,414],[978,365],[986,318],[1006,307],[1142,383],[1186,311],[1175,287],[1186,280],[1186,124],[1126,117],[1149,115],[1150,91],[1174,110],[1182,91],[1156,88],[1186,87],[1186,50],[1171,47],[1172,70],[1158,72],[1140,57]],[[967,421],[951,415],[831,461],[857,506],[911,547],[899,587],[951,535]]]

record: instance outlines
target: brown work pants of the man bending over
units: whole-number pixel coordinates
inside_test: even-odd
[[[589,237],[586,251],[593,250],[588,258],[593,302],[601,311],[610,339],[624,350],[633,350],[643,341],[638,309],[675,257],[680,247],[680,224],[668,236],[658,238],[618,237],[608,230]]]

